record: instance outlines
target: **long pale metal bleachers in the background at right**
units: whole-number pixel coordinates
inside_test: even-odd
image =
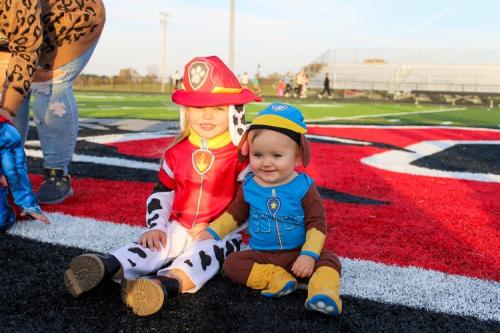
[[[500,51],[329,50],[313,64],[312,88],[329,73],[336,90],[500,94]]]

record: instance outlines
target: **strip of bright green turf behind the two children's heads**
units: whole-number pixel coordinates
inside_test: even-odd
[[[78,92],[80,117],[177,120],[179,107],[169,95]],[[500,108],[398,103],[346,103],[319,99],[264,98],[247,106],[247,118],[272,102],[293,104],[307,121],[322,124],[451,125],[500,127]],[[427,113],[431,111],[430,113]],[[404,114],[401,114],[404,113]]]

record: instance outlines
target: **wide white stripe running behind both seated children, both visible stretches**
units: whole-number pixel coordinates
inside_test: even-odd
[[[40,242],[109,253],[136,241],[143,227],[47,213],[50,225],[22,221],[8,233]],[[68,258],[69,262],[70,258]],[[428,311],[500,321],[500,283],[419,267],[341,258],[342,294]]]

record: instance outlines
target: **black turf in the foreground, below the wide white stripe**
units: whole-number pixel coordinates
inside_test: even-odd
[[[168,300],[151,317],[137,317],[106,281],[79,298],[63,274],[81,249],[0,235],[2,332],[499,332],[500,323],[422,311],[353,297],[339,318],[309,313],[306,293],[262,297],[221,275],[195,294]],[[40,260],[43,258],[43,260]],[[189,318],[189,320],[186,320]]]

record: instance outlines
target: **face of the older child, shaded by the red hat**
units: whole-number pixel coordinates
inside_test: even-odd
[[[193,131],[202,138],[211,139],[228,129],[228,112],[228,106],[188,107],[186,117]]]

